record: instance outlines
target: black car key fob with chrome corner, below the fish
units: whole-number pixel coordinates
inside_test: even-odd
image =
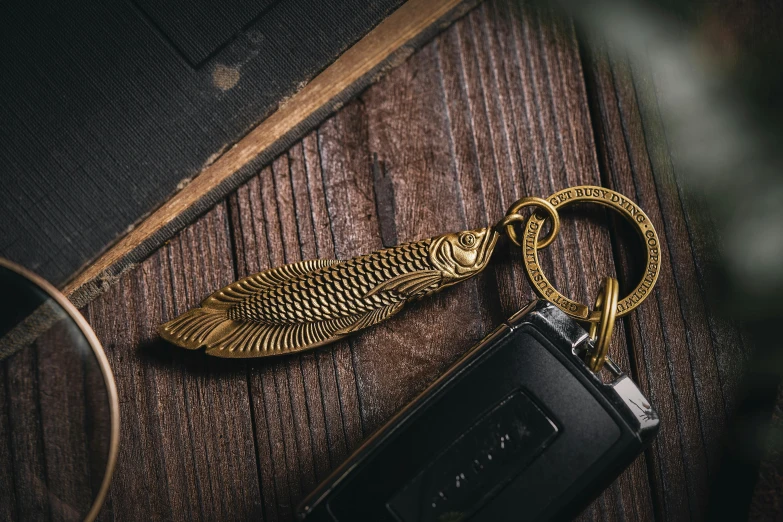
[[[585,330],[534,301],[375,432],[299,507],[308,522],[562,520],[650,443],[659,420]]]

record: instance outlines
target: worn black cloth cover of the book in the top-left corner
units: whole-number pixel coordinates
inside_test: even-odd
[[[0,256],[61,285],[401,3],[5,3]]]

